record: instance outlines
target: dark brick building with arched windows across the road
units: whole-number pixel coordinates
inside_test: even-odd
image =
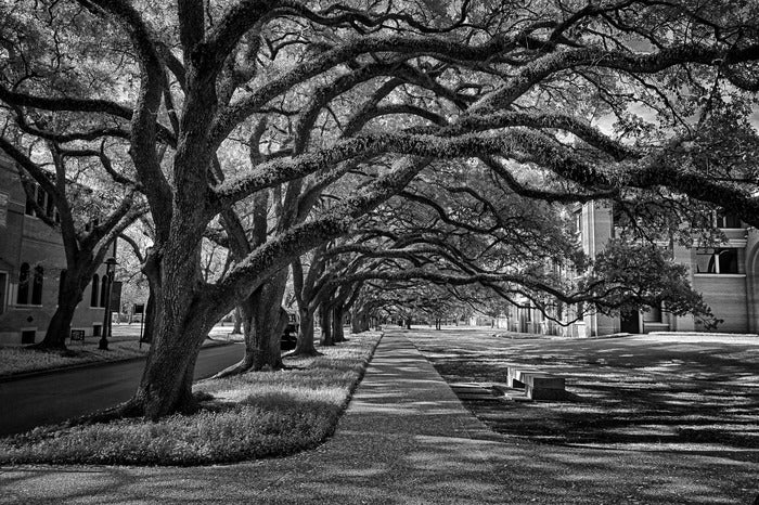
[[[52,200],[36,186],[35,198],[55,219]],[[61,235],[35,215],[15,164],[0,152],[0,344],[34,344],[44,336],[57,306],[66,255]],[[100,336],[105,267],[95,274],[72,322],[72,329]]]

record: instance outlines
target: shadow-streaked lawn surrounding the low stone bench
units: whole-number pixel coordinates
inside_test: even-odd
[[[730,453],[757,461],[759,342],[671,337],[511,340],[421,334],[417,347],[449,381],[505,383],[520,365],[565,376],[574,402],[464,398],[498,432],[554,444]]]

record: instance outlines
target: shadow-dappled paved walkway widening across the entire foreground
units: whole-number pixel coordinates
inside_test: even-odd
[[[390,347],[393,338],[340,429],[313,451],[192,469],[11,468],[0,475],[3,491],[35,503],[257,504],[706,504],[750,503],[757,494],[757,465],[730,454],[567,446],[493,433],[462,411],[408,345]]]

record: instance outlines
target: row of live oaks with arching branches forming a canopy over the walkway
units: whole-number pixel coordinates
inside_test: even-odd
[[[549,314],[555,300],[667,298],[708,316],[651,246],[619,242],[589,264],[562,206],[616,199],[652,239],[684,237],[672,223],[696,200],[759,224],[757,14],[684,0],[15,0],[0,7],[0,147],[38,181],[54,165],[59,208],[82,164],[121,189],[95,235],[74,226],[72,250],[150,222],[153,341],[118,414],[156,418],[193,409],[202,340],[237,306],[239,370],[279,365],[288,269],[298,352],[313,351],[317,307],[339,333],[346,307],[404,306],[414,280]],[[654,225],[638,218],[653,207],[667,210]],[[229,250],[213,279],[204,241]]]

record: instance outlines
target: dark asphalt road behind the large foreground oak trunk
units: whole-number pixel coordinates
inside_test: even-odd
[[[242,345],[201,350],[195,379],[209,377],[242,358]],[[0,383],[0,436],[60,423],[129,400],[144,360],[56,372]]]

